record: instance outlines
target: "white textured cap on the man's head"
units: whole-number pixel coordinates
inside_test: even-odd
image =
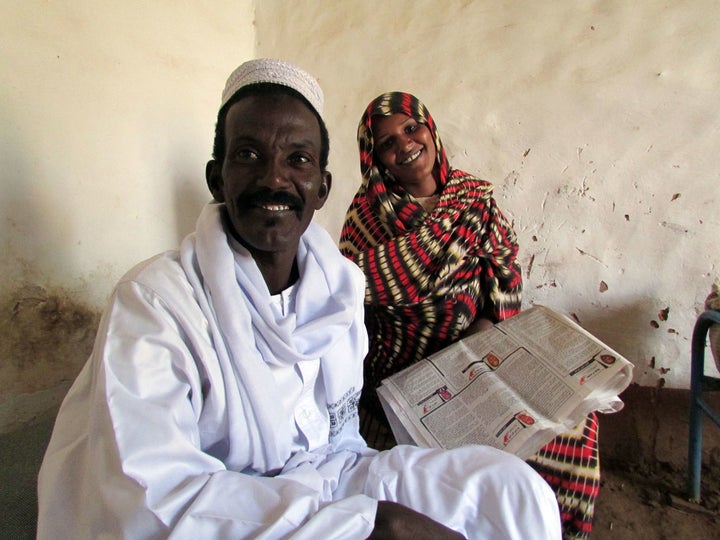
[[[322,117],[323,93],[317,80],[289,62],[271,58],[249,60],[233,71],[225,83],[220,108],[225,106],[235,92],[257,83],[281,84],[300,92]]]

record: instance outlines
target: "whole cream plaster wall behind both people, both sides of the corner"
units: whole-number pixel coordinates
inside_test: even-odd
[[[453,164],[495,183],[521,241],[525,305],[574,315],[642,384],[687,386],[692,325],[720,267],[717,2],[0,11],[0,292],[57,285],[100,308],[129,267],[177,246],[208,198],[226,76],[277,56],[326,92],[335,182],[318,220],[336,238],[360,181],[362,109],[414,92]]]

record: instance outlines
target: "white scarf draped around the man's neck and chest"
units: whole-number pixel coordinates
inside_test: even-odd
[[[230,248],[224,212],[224,205],[218,203],[205,206],[195,233],[181,245],[180,258],[210,321],[227,407],[244,413],[242,431],[246,430],[248,440],[233,445],[231,438],[228,459],[249,462],[256,471],[272,471],[282,468],[290,456],[291,435],[276,418],[281,399],[268,364],[319,358],[329,408],[359,392],[367,340],[364,329],[358,336],[358,329],[352,327],[358,303],[362,304],[364,278],[347,264],[328,233],[310,223],[297,252],[296,312],[279,326],[252,256],[240,247],[236,258]],[[358,346],[362,350],[353,351]],[[358,358],[360,366],[355,365]],[[237,395],[239,402],[232,403]],[[249,455],[237,455],[248,448]]]

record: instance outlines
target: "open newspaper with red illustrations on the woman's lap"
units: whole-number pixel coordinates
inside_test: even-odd
[[[385,379],[398,443],[484,444],[527,459],[590,412],[617,412],[633,365],[567,317],[536,305]]]

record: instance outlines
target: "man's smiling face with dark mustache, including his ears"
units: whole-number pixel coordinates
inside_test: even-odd
[[[294,257],[330,192],[315,115],[292,96],[249,95],[228,110],[225,141],[223,163],[208,164],[208,185],[235,237],[255,258]]]

